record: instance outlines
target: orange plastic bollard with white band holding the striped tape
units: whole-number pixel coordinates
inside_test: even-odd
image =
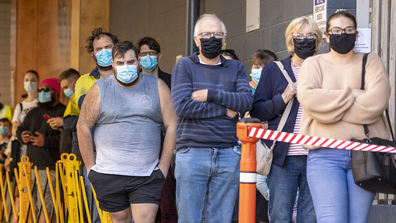
[[[261,121],[257,118],[244,118],[237,124],[237,137],[242,142],[239,177],[240,223],[254,223],[256,218],[256,143],[259,139],[248,137],[249,127],[261,128]]]

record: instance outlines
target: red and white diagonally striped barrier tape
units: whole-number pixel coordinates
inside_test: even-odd
[[[374,144],[366,144],[360,142],[344,141],[338,139],[328,139],[316,136],[308,136],[301,134],[294,134],[289,132],[278,132],[268,129],[249,128],[249,137],[276,140],[279,142],[303,144],[310,146],[327,147],[334,149],[348,149],[358,151],[371,151],[371,152],[383,152],[383,153],[396,153],[395,147],[379,146]]]

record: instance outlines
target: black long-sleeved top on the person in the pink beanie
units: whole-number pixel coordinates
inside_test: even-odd
[[[32,132],[34,135],[36,132],[45,135],[44,147],[33,146],[30,143],[27,145],[26,155],[29,157],[29,161],[33,163],[33,166],[37,166],[39,169],[55,169],[55,163],[60,159],[59,153],[59,142],[61,132],[53,130],[47,120],[44,118],[44,114],[49,117],[63,117],[66,106],[59,103],[51,108],[36,107],[31,110],[27,115],[23,123],[18,127],[17,138],[19,143],[22,142],[21,134],[27,130]]]

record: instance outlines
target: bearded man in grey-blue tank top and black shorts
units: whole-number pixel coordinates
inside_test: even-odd
[[[97,80],[77,124],[81,155],[99,207],[112,222],[154,222],[176,141],[170,90],[158,77],[138,73],[129,41],[112,49],[114,76]],[[91,129],[95,125],[93,152]],[[161,159],[161,126],[166,136]]]

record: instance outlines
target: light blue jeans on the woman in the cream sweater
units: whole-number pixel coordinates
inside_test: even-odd
[[[309,188],[318,222],[366,222],[375,193],[353,180],[351,151],[319,148],[307,161]]]

